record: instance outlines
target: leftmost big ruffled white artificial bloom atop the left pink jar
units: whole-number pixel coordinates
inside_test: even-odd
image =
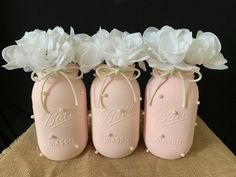
[[[74,61],[71,37],[61,27],[47,32],[34,30],[26,32],[17,45],[6,47],[2,56],[6,69],[24,68],[25,71],[63,69]]]

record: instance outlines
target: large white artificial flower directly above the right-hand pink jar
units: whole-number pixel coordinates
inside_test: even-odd
[[[149,27],[144,31],[144,41],[150,58],[150,67],[160,70],[199,70],[198,67],[184,62],[189,47],[192,44],[192,32],[188,29],[173,29],[164,26],[160,30]]]

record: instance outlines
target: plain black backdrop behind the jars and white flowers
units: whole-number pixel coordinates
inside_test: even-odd
[[[229,69],[201,69],[203,79],[198,83],[201,101],[198,114],[236,153],[235,1],[1,0],[0,4],[0,50],[14,44],[25,31],[55,26],[62,26],[67,32],[73,26],[76,33],[90,35],[100,26],[109,31],[118,28],[143,32],[149,26],[160,28],[166,24],[189,28],[194,35],[199,29],[215,33],[221,40]],[[0,64],[4,64],[2,59]],[[84,77],[87,91],[92,78],[92,73]],[[149,78],[147,72],[138,79],[143,96]],[[32,86],[30,73],[0,69],[0,151],[32,123]]]

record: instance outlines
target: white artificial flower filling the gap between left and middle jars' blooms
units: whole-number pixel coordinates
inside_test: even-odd
[[[75,35],[77,41],[76,58],[82,72],[87,73],[104,62],[102,51],[108,44],[106,42],[108,37],[109,32],[101,28],[92,37],[86,34]]]

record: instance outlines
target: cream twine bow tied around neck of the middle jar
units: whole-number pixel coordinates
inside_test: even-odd
[[[136,74],[135,74],[135,72],[136,72]],[[108,76],[112,76],[112,75],[115,75],[115,76],[120,75],[127,81],[127,83],[129,84],[129,87],[132,91],[134,102],[136,102],[137,96],[135,94],[134,87],[132,86],[130,80],[137,79],[140,76],[140,74],[141,74],[140,71],[134,67],[119,68],[119,67],[108,67],[107,65],[101,65],[101,66],[97,67],[96,75],[103,77],[101,91],[99,94],[98,106],[100,106],[100,104],[101,104],[102,107],[104,108],[104,105],[102,102],[102,97],[103,97],[103,93],[105,91],[105,88],[108,84],[108,83],[106,84],[106,80],[107,80]],[[129,75],[131,75],[131,77]]]

